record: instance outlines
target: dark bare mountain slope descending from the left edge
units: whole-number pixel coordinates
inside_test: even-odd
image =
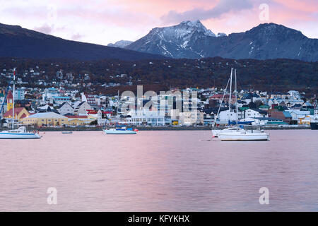
[[[0,57],[35,59],[163,59],[160,55],[129,49],[105,47],[98,44],[64,40],[52,35],[0,23]]]

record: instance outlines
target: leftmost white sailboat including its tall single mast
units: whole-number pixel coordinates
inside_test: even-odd
[[[16,89],[16,69],[13,69],[13,109],[12,109],[12,129],[0,132],[0,139],[38,139],[41,138],[39,132],[28,132],[25,126],[14,129],[14,93]]]

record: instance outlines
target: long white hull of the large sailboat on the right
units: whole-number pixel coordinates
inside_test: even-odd
[[[221,141],[269,141],[268,133],[219,133]]]

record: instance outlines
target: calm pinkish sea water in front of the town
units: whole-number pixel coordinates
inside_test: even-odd
[[[211,131],[42,133],[0,140],[0,211],[317,211],[318,131],[208,141]],[[47,189],[57,189],[57,205]],[[269,189],[269,205],[259,189]]]

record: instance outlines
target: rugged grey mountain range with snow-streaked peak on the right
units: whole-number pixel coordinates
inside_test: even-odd
[[[260,24],[247,32],[217,36],[199,20],[154,28],[127,49],[173,58],[225,57],[230,59],[300,59],[318,61],[318,39],[275,23]]]

